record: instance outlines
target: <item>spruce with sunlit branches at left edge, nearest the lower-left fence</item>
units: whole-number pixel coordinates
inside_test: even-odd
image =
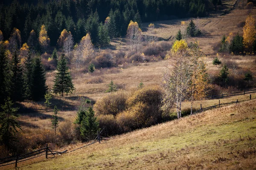
[[[10,97],[5,100],[5,105],[1,105],[3,112],[0,113],[0,137],[3,143],[9,149],[9,142],[15,141],[15,134],[20,129],[18,123],[18,115],[16,114],[18,108],[12,108],[12,101]]]

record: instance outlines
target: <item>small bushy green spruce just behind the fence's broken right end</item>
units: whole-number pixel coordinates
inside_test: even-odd
[[[97,135],[97,130],[99,130],[99,122],[96,119],[97,118],[94,116],[93,108],[90,107],[86,111],[86,114],[83,116],[81,121],[80,132],[84,139],[90,140]]]

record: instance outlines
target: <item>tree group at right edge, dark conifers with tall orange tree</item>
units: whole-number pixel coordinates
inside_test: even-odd
[[[246,18],[243,28],[243,36],[230,33],[221,38],[220,52],[230,52],[232,54],[253,54],[256,51],[256,25],[255,19],[249,15]]]

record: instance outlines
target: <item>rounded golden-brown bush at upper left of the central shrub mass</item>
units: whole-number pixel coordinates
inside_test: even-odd
[[[128,94],[124,91],[117,91],[98,100],[93,109],[95,115],[113,115],[114,117],[126,109]]]

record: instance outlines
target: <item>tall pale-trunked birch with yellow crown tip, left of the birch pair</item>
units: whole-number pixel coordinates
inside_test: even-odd
[[[187,50],[169,51],[169,66],[166,67],[162,78],[163,110],[170,111],[175,105],[177,118],[181,117],[181,102],[186,99],[189,87],[189,60]]]

